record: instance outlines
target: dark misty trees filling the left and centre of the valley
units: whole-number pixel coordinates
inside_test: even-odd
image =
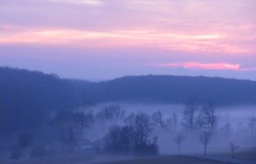
[[[102,137],[94,136],[89,140],[88,133],[98,129]],[[96,113],[63,110],[49,118],[44,127],[21,130],[12,138],[5,138],[8,145],[4,151],[9,152],[10,159],[88,151],[154,155],[158,147],[153,132],[154,125],[148,114],[127,115],[116,105],[101,108]]]

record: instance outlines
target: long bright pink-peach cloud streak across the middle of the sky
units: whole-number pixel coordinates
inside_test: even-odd
[[[8,30],[8,28],[10,28]],[[43,44],[85,47],[148,46],[167,50],[197,53],[251,54],[253,48],[226,44],[229,36],[201,32],[189,34],[177,31],[123,29],[107,31],[72,28],[17,28],[5,27],[1,44]],[[223,42],[223,43],[222,43]]]

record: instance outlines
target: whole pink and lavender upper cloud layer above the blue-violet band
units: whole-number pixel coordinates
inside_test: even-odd
[[[0,44],[256,52],[254,0],[26,0],[3,6]],[[25,27],[9,29],[5,24]]]

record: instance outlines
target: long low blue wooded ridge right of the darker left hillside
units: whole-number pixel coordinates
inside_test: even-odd
[[[97,83],[101,101],[185,103],[189,97],[218,104],[256,103],[256,82],[220,77],[138,76]],[[93,95],[93,94],[92,94]]]

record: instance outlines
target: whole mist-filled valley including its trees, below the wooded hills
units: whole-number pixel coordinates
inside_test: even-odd
[[[111,102],[53,112],[46,122],[38,129],[3,135],[5,158],[75,153],[235,156],[256,148],[256,106],[193,99],[187,104]]]

